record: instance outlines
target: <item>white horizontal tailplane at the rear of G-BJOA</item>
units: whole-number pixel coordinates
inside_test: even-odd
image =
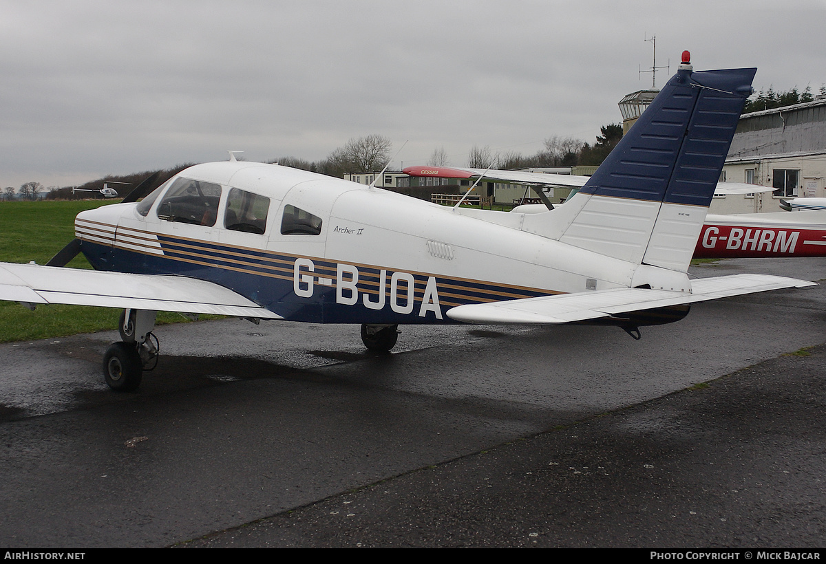
[[[615,288],[456,306],[448,310],[447,314],[450,319],[465,323],[549,325],[593,320],[657,307],[679,306],[757,291],[807,286],[816,284],[806,280],[764,274],[735,274],[692,280],[691,293]]]

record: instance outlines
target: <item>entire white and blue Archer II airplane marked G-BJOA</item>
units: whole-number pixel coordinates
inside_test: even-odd
[[[273,164],[199,164],[140,202],[83,211],[95,271],[0,264],[0,299],[124,308],[104,376],[133,390],[157,360],[157,310],[361,324],[387,351],[400,324],[638,327],[695,301],[812,282],[686,274],[756,69],[686,60],[564,206],[462,210]]]

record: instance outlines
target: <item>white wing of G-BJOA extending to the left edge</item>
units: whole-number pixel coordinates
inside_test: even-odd
[[[282,319],[228,288],[195,278],[0,263],[0,300]]]

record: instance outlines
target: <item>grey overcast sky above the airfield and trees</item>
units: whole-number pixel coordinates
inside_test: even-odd
[[[694,68],[826,83],[826,0],[0,0],[0,187],[223,160],[323,159],[351,137],[534,154]]]

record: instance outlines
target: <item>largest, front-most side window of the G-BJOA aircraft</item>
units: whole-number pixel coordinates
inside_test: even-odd
[[[162,220],[211,227],[215,225],[218,217],[219,201],[219,184],[178,177],[160,202],[158,217]]]

